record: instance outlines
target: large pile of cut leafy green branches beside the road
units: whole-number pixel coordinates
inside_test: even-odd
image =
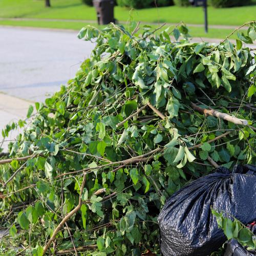
[[[236,46],[190,43],[183,23],[141,36],[130,25],[79,32],[96,42],[91,57],[36,103],[0,160],[1,226],[12,237],[2,251],[15,241],[28,255],[159,255],[168,197],[220,165],[255,164],[256,65],[243,42],[256,23]]]

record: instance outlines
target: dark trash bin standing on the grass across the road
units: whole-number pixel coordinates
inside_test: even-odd
[[[116,5],[116,0],[93,0],[99,25],[105,25],[111,22],[115,23],[114,7]]]

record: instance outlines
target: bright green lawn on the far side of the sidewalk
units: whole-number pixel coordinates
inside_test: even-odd
[[[45,8],[44,0],[0,0],[0,17],[96,20],[95,8],[81,4],[81,0],[51,0],[51,5],[52,7]],[[158,8],[158,10],[160,23],[179,23],[181,20],[188,24],[204,23],[201,7],[169,6]],[[129,11],[127,8],[117,6],[115,17],[125,22],[129,18]],[[158,22],[157,9],[137,10],[134,12],[134,18],[141,22]],[[225,9],[208,7],[209,25],[239,26],[255,19],[256,5]]]

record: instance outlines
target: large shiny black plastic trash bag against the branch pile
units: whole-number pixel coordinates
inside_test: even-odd
[[[213,205],[243,224],[256,219],[256,166],[225,167],[188,183],[165,203],[158,224],[164,256],[206,256],[227,240],[212,216]]]

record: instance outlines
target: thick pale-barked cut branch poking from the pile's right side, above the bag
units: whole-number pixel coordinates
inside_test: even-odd
[[[190,106],[191,106],[192,109],[194,109],[195,111],[197,111],[199,113],[204,114],[206,117],[207,116],[214,116],[214,117],[218,117],[218,118],[227,120],[227,121],[235,123],[235,124],[240,124],[240,125],[245,125],[245,126],[248,125],[247,120],[240,119],[240,118],[237,118],[237,117],[234,117],[234,116],[229,116],[226,113],[221,113],[221,112],[216,111],[216,110],[206,110],[206,109],[200,108],[200,106],[197,106],[194,103],[192,103]]]

